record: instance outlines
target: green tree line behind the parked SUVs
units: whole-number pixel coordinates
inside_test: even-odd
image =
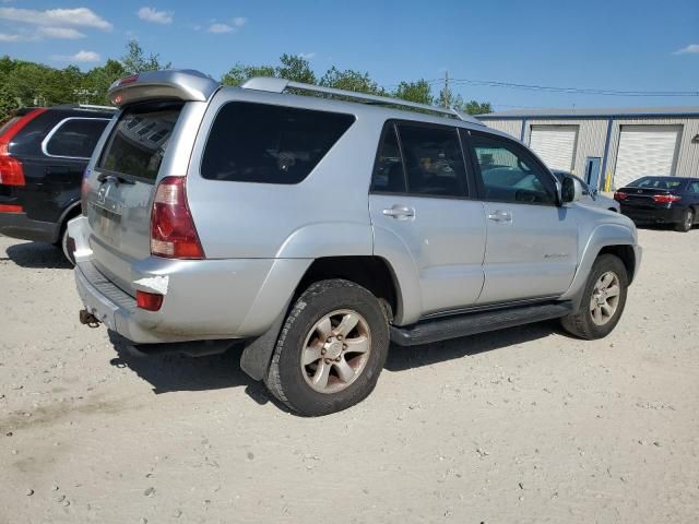
[[[42,63],[15,60],[9,56],[0,58],[0,121],[19,107],[52,106],[57,104],[109,105],[107,90],[111,83],[128,74],[170,68],[170,62],[161,61],[157,53],[143,50],[137,40],[127,44],[120,59],[108,59],[104,66],[81,71],[75,66],[56,69]],[[461,95],[448,87],[433,93],[430,82],[420,79],[400,82],[394,90],[387,90],[371,80],[368,72],[331,67],[318,75],[309,61],[298,55],[282,55],[277,64],[249,66],[236,63],[221,78],[224,85],[240,85],[252,76],[276,76],[335,87],[357,93],[393,96],[419,104],[451,107],[470,115],[490,112],[489,103],[464,102]]]

